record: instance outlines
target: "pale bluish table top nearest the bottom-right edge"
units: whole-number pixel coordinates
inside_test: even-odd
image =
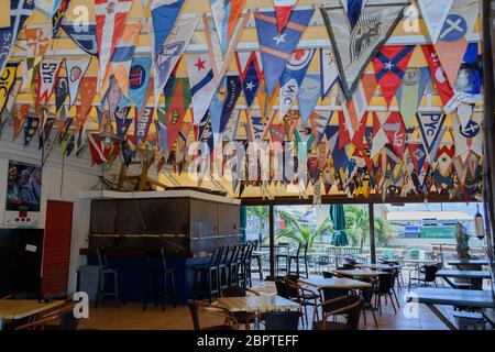
[[[427,305],[494,307],[491,290],[419,287],[409,297],[411,301]]]

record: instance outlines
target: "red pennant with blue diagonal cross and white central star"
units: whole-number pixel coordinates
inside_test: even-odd
[[[388,108],[403,81],[414,50],[415,45],[383,46],[373,59],[376,79]]]

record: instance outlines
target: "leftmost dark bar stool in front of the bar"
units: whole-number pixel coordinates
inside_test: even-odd
[[[118,266],[109,266],[108,257],[103,246],[97,248],[98,256],[98,288],[97,297],[95,300],[95,308],[98,307],[98,302],[103,305],[103,298],[106,296],[113,296],[116,299],[117,308],[120,307],[120,298],[123,298],[122,290],[122,268]],[[106,284],[108,277],[113,278],[113,290],[107,292]],[[122,300],[122,302],[124,302]]]

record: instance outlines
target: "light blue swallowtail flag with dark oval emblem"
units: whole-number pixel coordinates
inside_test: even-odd
[[[129,98],[121,96],[119,108],[135,103],[139,111],[143,109],[144,98],[146,97],[147,86],[150,84],[150,68],[152,58],[150,56],[136,56],[132,61],[129,72]]]

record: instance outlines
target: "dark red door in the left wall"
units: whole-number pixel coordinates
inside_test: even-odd
[[[67,294],[73,204],[48,200],[43,246],[42,295]]]

